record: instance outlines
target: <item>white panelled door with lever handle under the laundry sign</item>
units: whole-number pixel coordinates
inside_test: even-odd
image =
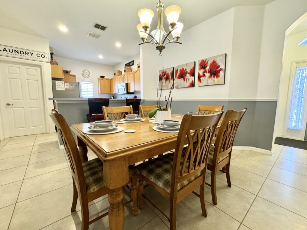
[[[45,133],[41,69],[0,63],[2,124],[8,137]]]

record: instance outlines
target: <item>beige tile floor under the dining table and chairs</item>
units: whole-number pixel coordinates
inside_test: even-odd
[[[217,174],[218,204],[206,186],[208,217],[190,194],[177,207],[178,229],[307,229],[307,151],[274,146],[273,155],[234,150],[229,188]],[[95,158],[89,151],[89,159]],[[210,172],[207,181],[210,181]],[[144,193],[168,215],[169,202],[150,187]],[[128,199],[126,191],[125,199]],[[227,199],[225,199],[227,197]],[[223,199],[224,198],[224,199]],[[72,178],[56,134],[0,141],[0,229],[80,229],[80,204],[70,213]],[[90,218],[108,209],[107,196],[89,204]],[[105,217],[90,230],[109,229]],[[125,229],[164,230],[169,223],[146,203],[137,217],[125,207]]]

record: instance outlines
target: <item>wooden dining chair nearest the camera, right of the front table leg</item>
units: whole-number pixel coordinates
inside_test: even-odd
[[[152,204],[143,195],[143,182],[146,181],[170,201],[169,217],[161,210],[158,211],[170,222],[171,230],[176,230],[177,203],[197,187],[200,188],[202,214],[207,217],[204,199],[207,159],[211,139],[222,114],[222,111],[206,116],[185,114],[177,136],[175,152],[137,166],[140,171],[139,209],[143,207],[143,198]],[[185,144],[188,145],[184,148]]]

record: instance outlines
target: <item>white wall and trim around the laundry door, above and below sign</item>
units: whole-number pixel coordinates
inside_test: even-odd
[[[49,53],[49,40],[42,37],[37,37],[25,33],[19,33],[13,30],[0,28],[0,44],[8,45],[18,48],[30,49],[39,52]],[[41,65],[41,76],[42,76],[42,84],[45,87],[43,92],[43,98],[45,103],[45,120],[47,121],[46,124],[46,132],[54,132],[54,124],[48,116],[48,113],[53,109],[53,101],[49,101],[48,98],[52,97],[52,86],[51,86],[51,70],[50,70],[50,63],[46,62],[38,62],[33,60],[25,60],[25,59],[18,59],[13,57],[4,57],[0,56],[0,61],[10,61],[10,62],[22,62],[22,63],[29,63],[35,65]],[[0,81],[1,84],[1,81]],[[1,101],[1,99],[0,99]],[[0,114],[1,120],[1,114]],[[4,121],[6,122],[6,121]],[[1,124],[0,124],[1,125]],[[0,128],[0,139],[3,137],[3,132],[1,134]]]

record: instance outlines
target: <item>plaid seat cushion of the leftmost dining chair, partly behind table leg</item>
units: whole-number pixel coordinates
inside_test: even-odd
[[[82,166],[87,193],[95,192],[96,190],[106,186],[103,180],[103,163],[99,158],[86,161],[82,163]],[[129,166],[129,178],[138,174],[139,171],[136,167]]]

